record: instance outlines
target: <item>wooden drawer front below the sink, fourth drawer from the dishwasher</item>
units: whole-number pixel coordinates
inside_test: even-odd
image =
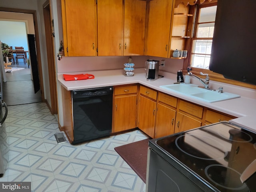
[[[203,107],[197,106],[195,104],[180,100],[179,104],[180,110],[187,112],[196,117],[202,118],[203,116]]]

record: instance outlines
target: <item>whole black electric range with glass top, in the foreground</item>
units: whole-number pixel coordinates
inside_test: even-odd
[[[148,192],[253,192],[256,133],[219,122],[153,139],[147,166]]]

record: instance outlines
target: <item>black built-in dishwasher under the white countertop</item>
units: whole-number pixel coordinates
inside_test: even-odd
[[[113,87],[73,90],[74,141],[72,144],[110,136]]]

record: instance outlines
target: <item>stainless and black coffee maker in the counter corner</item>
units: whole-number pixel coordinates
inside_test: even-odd
[[[148,59],[145,62],[147,81],[154,81],[158,79],[159,61]]]

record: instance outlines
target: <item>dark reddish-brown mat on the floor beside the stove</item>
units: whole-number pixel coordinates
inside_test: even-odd
[[[114,148],[144,183],[146,183],[149,140],[150,138]]]

